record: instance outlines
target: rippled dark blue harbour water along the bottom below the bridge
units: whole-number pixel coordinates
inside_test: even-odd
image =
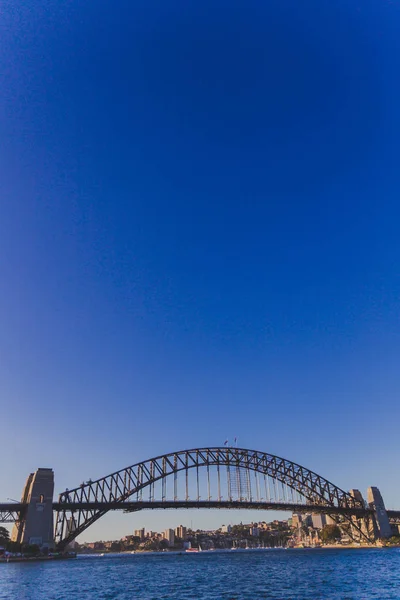
[[[78,557],[0,565],[1,600],[400,599],[400,549]]]

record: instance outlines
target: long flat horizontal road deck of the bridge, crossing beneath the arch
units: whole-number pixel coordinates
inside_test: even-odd
[[[0,503],[0,523],[12,523],[23,514],[28,505],[19,503]],[[327,514],[346,514],[358,517],[372,514],[369,508],[341,508],[337,506],[323,506],[320,504],[293,504],[287,502],[249,502],[230,500],[152,500],[133,502],[53,502],[54,511],[73,510],[122,510],[137,512],[139,510],[157,509],[248,509],[248,510],[287,510],[291,512],[325,512]],[[400,521],[399,510],[388,510],[391,521]]]

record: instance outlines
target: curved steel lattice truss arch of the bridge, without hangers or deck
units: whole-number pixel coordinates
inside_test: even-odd
[[[59,496],[55,541],[64,548],[70,541],[110,509],[110,503],[122,504],[157,482],[200,468],[224,467],[254,472],[281,482],[321,508],[364,508],[362,503],[314,471],[279,456],[245,448],[213,447],[180,450],[136,463],[95,481],[66,490]],[[69,506],[70,505],[70,506]],[[83,505],[84,508],[76,508]],[[138,508],[140,510],[140,508]],[[327,510],[326,512],[329,512]]]

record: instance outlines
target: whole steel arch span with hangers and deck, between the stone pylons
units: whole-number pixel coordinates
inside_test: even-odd
[[[144,501],[143,496],[148,500]],[[129,501],[129,502],[128,502]],[[181,450],[136,463],[59,495],[55,542],[65,548],[109,510],[142,508],[278,508],[309,506],[347,520],[364,503],[324,477],[273,454],[244,448]]]

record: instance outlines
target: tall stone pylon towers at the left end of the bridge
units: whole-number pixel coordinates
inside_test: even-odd
[[[53,492],[52,469],[38,469],[29,475],[21,498],[27,509],[22,520],[13,528],[12,541],[54,548]]]

